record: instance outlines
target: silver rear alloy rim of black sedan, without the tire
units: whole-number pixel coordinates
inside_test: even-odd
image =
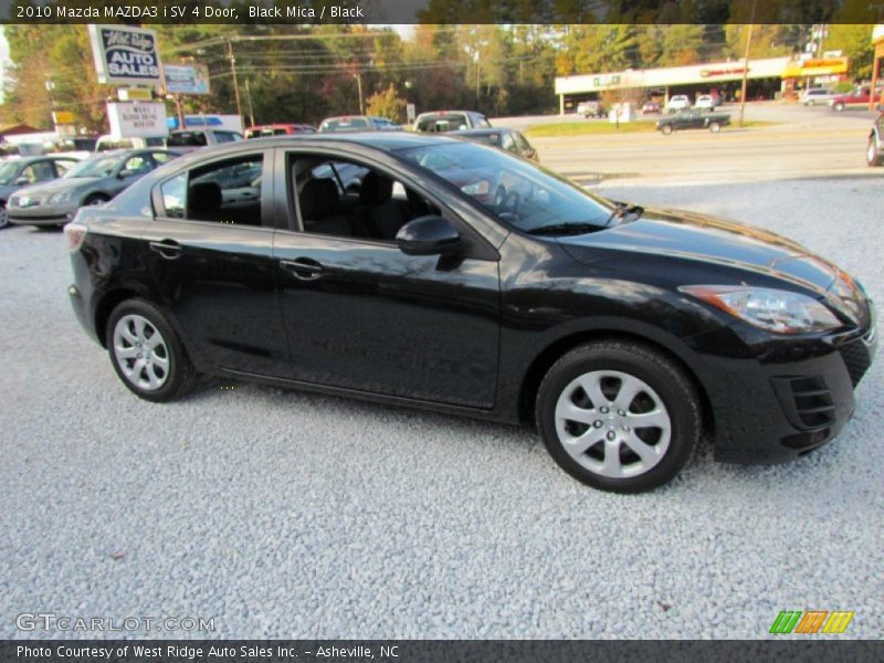
[[[159,329],[146,317],[129,314],[114,327],[114,359],[138,389],[156,391],[169,378],[169,348]]]

